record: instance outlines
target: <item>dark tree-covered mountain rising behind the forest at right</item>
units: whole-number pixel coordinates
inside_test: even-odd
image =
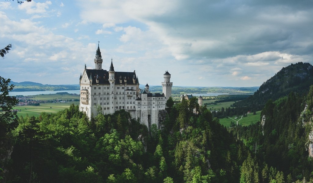
[[[296,92],[299,95],[306,94],[313,84],[313,67],[310,63],[296,63],[283,67],[275,76],[264,82],[254,95],[234,104],[237,107],[251,107],[262,109],[266,101]]]

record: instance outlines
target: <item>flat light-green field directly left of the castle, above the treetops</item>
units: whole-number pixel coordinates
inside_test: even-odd
[[[41,112],[56,113],[58,111],[69,108],[71,104],[79,105],[79,102],[62,102],[62,103],[40,103],[40,106],[15,106],[13,109],[18,109],[18,116],[40,116]],[[51,108],[50,108],[51,107]]]

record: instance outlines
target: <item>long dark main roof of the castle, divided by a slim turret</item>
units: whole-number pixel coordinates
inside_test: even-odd
[[[110,84],[109,82],[109,72],[107,70],[100,69],[85,69],[87,76],[92,79],[92,84]],[[133,76],[135,75],[135,78]],[[99,78],[99,83],[96,82],[96,78]],[[139,84],[136,73],[134,72],[115,72],[114,73],[115,84],[130,84],[133,85],[133,79],[135,79],[135,84]],[[120,82],[120,78],[121,82]],[[126,80],[126,82],[125,82]]]

